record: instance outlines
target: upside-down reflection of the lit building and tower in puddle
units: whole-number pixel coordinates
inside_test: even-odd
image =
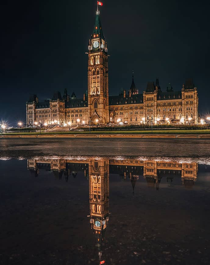
[[[149,188],[161,188],[161,181],[166,179],[168,186],[175,179],[186,189],[192,189],[197,180],[198,163],[179,163],[172,161],[109,159],[97,158],[37,158],[27,160],[27,168],[31,175],[37,177],[41,170],[52,171],[58,179],[64,175],[66,182],[72,175],[76,178],[78,172],[83,172],[89,181],[88,216],[91,229],[94,232],[98,248],[98,263],[103,264],[102,243],[109,224],[109,174],[118,174],[122,181],[131,182],[134,198],[134,188],[140,179],[144,179]]]

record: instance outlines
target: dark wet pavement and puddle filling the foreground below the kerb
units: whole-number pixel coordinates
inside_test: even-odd
[[[0,141],[0,264],[210,263],[206,141],[50,140]]]

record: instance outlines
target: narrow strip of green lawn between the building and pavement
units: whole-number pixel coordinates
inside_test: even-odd
[[[91,131],[91,134],[151,134],[151,130],[133,130],[133,131]],[[3,135],[39,135],[40,132],[11,132]],[[86,132],[41,132],[41,134],[89,134]],[[210,134],[210,130],[155,130],[152,134]]]

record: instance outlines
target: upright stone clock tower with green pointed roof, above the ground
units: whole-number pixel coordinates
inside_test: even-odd
[[[107,43],[103,35],[99,10],[88,44],[88,116],[94,123],[109,122],[109,88]]]

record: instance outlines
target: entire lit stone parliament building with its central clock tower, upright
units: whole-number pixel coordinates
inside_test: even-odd
[[[103,35],[99,11],[88,43],[88,84],[83,98],[73,92],[63,96],[55,92],[52,99],[39,102],[37,95],[26,103],[27,126],[78,125],[90,121],[98,124],[198,124],[198,93],[192,79],[174,91],[171,84],[162,91],[159,80],[148,82],[139,93],[132,78],[130,89],[109,96],[108,48]]]

